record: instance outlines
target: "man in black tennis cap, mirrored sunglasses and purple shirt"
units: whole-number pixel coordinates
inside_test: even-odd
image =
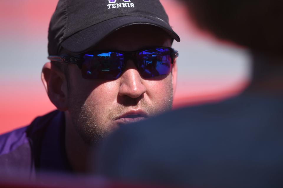
[[[60,0],[48,39],[42,81],[58,110],[0,136],[5,175],[87,172],[105,135],[172,107],[180,38],[159,0]]]

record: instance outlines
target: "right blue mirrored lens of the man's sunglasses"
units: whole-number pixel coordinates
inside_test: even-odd
[[[139,52],[137,63],[141,76],[150,78],[169,74],[172,67],[171,51],[169,49],[150,49]]]

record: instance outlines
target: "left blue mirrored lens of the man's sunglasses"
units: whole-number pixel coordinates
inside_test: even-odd
[[[85,54],[83,59],[82,75],[85,79],[115,80],[124,66],[124,55],[118,52]]]

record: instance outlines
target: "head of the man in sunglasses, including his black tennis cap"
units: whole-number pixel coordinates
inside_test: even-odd
[[[51,63],[42,79],[65,112],[66,134],[90,145],[119,124],[172,108],[177,70],[170,47],[179,37],[158,0],[59,1],[48,38]]]

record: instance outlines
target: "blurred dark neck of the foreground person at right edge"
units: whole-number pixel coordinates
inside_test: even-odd
[[[253,53],[253,77],[247,92],[283,94],[283,56]]]

